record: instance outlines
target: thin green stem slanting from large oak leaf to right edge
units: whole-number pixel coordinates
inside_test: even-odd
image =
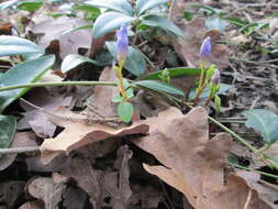
[[[276,162],[274,162],[271,160],[271,157],[269,157],[266,154],[259,153],[259,150],[257,150],[256,147],[252,146],[246,140],[244,140],[243,138],[241,138],[240,135],[237,135],[235,132],[233,132],[231,129],[226,128],[225,125],[223,125],[222,123],[220,123],[219,121],[216,121],[215,119],[211,118],[210,116],[208,116],[209,120],[211,120],[213,123],[215,123],[216,125],[219,125],[221,129],[223,129],[225,132],[230,133],[232,136],[234,136],[235,140],[237,140],[238,142],[241,142],[243,145],[245,145],[247,148],[249,148],[253,153],[259,155],[260,158],[267,161],[274,168],[278,169],[278,165]]]

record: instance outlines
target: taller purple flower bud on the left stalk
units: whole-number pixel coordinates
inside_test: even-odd
[[[122,65],[126,58],[129,51],[129,37],[127,37],[127,28],[125,24],[116,32],[116,47],[118,47],[118,62]]]

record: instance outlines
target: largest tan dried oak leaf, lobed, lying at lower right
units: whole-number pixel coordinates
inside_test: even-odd
[[[251,189],[246,182],[231,174],[224,183],[223,170],[233,141],[225,133],[209,140],[203,108],[194,108],[186,116],[170,108],[146,123],[149,135],[132,142],[165,165],[144,165],[147,172],[180,190],[197,209],[244,207]],[[249,206],[268,209],[256,191]]]

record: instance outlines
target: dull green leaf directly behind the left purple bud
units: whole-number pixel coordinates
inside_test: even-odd
[[[116,57],[116,43],[105,42],[108,51],[113,57]],[[145,73],[146,62],[144,55],[138,50],[129,46],[129,52],[126,55],[126,61],[123,66],[126,70],[135,76],[142,76]]]

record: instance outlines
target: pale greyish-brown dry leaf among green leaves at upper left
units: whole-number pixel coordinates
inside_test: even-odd
[[[90,48],[91,31],[78,30],[71,33],[64,34],[65,32],[87,25],[88,22],[78,18],[60,16],[57,19],[44,18],[42,20],[34,20],[30,26],[30,31],[37,36],[41,35],[38,44],[45,48],[52,47],[51,51],[59,52],[62,58],[68,54],[78,54],[79,48]],[[54,30],[55,29],[55,30]]]

